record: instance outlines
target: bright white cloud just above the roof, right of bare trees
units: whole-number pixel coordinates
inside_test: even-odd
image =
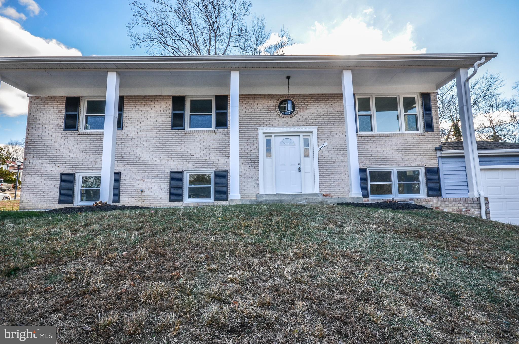
[[[285,48],[287,55],[355,55],[355,54],[412,54],[426,52],[418,49],[412,39],[413,26],[407,24],[402,32],[384,37],[381,30],[368,27],[360,17],[349,16],[331,27],[316,22],[306,43]]]

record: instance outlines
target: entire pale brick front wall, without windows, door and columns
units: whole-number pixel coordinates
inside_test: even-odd
[[[317,126],[320,192],[349,193],[341,94],[292,95],[297,114],[282,118],[282,95],[240,96],[240,194],[259,189],[258,127]],[[432,95],[434,133],[357,134],[360,167],[438,166],[438,107]],[[63,131],[65,97],[30,97],[22,209],[58,205],[60,173],[101,170],[102,132]],[[80,122],[81,123],[81,122]],[[126,96],[123,130],[117,131],[115,171],[121,173],[120,204],[179,206],[168,202],[169,171],[229,170],[229,130],[171,130],[171,96]],[[142,190],[142,192],[141,192]],[[225,202],[224,202],[225,203]]]

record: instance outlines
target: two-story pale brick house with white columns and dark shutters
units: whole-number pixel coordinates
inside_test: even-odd
[[[479,215],[472,158],[468,197],[442,197],[436,92],[496,56],[3,57],[30,97],[20,208],[396,199]]]

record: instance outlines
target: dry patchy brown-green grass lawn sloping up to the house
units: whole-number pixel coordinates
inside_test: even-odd
[[[519,228],[433,210],[0,213],[0,324],[77,343],[517,343]]]

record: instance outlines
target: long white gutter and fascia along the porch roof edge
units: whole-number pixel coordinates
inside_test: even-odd
[[[378,55],[256,55],[256,56],[80,56],[80,57],[1,57],[0,70],[132,70],[132,69],[228,69],[242,68],[376,68],[399,66],[465,67],[495,52],[455,54]],[[128,67],[127,64],[132,65]],[[142,66],[142,67],[141,67]]]

